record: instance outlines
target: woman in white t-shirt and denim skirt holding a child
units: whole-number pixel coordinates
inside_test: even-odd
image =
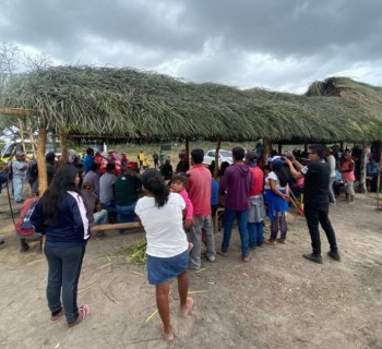
[[[189,243],[183,230],[186,203],[177,193],[170,193],[160,173],[148,169],[141,176],[146,195],[136,203],[135,213],[147,238],[147,278],[156,286],[156,305],[162,318],[160,332],[165,339],[174,339],[170,322],[169,281],[178,278],[180,315],[186,317],[193,299],[187,297],[189,277]]]

